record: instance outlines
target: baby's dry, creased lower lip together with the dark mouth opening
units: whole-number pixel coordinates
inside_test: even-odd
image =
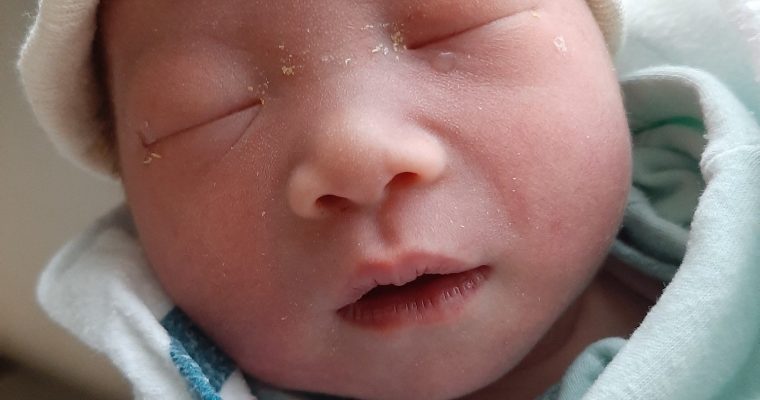
[[[489,273],[490,268],[483,265],[457,274],[424,275],[404,286],[383,286],[341,308],[338,315],[378,330],[444,322],[462,309]]]

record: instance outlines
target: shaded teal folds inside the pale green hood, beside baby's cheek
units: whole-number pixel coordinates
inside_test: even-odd
[[[632,113],[633,187],[612,253],[653,278],[670,281],[686,252],[704,190],[699,158],[705,128],[694,118],[635,118]]]

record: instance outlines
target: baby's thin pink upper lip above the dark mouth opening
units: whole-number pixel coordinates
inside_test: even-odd
[[[381,285],[405,285],[425,274],[456,274],[476,268],[452,257],[432,253],[407,253],[391,260],[370,260],[360,263],[351,278],[346,301],[352,304]]]

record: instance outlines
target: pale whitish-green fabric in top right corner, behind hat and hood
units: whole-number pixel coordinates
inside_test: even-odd
[[[743,11],[756,15],[739,18],[730,12],[742,3]],[[757,0],[623,0],[627,35],[617,70],[627,76],[658,65],[701,69],[758,111],[760,68],[753,68],[760,54],[757,4]]]

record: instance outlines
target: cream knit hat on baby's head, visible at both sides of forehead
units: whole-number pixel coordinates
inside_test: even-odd
[[[614,54],[623,37],[622,0],[586,1]],[[18,68],[32,110],[58,150],[86,170],[116,178],[107,101],[92,54],[97,8],[98,0],[40,0]]]

